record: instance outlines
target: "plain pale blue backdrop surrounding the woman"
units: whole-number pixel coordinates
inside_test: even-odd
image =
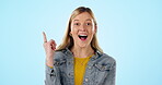
[[[44,85],[42,32],[60,44],[71,12],[93,10],[117,85],[162,85],[161,0],[0,0],[0,85]]]

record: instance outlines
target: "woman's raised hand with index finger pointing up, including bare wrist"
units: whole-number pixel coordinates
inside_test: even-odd
[[[43,32],[43,36],[44,36],[44,49],[45,49],[45,52],[46,52],[46,64],[48,66],[53,66],[53,59],[54,59],[54,54],[55,54],[55,49],[56,49],[56,42],[55,40],[50,39],[49,41],[47,41],[47,38],[46,38],[46,34]]]

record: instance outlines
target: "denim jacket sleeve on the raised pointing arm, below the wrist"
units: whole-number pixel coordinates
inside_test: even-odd
[[[61,85],[60,75],[57,68],[49,68],[46,65],[45,71],[45,85]]]

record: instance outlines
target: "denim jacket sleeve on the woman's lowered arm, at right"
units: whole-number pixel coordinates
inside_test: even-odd
[[[103,85],[115,85],[115,81],[116,81],[115,78],[116,78],[116,61],[114,61],[114,63],[112,64],[109,74],[104,80]]]

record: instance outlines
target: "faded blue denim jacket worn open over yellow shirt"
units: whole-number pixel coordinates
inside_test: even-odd
[[[45,85],[74,85],[73,54],[66,48],[56,51],[54,68],[46,65]],[[115,85],[116,61],[96,51],[88,62],[83,85]]]

